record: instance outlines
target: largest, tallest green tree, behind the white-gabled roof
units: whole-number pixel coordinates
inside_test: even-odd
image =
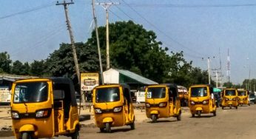
[[[98,29],[104,61],[106,61],[105,30],[105,27]],[[156,41],[156,38],[154,32],[147,31],[142,25],[132,21],[117,21],[110,24],[111,67],[127,69],[159,83],[168,81],[166,78],[169,78],[168,72],[173,61],[166,54],[168,49],[161,47],[161,41]],[[95,31],[92,32],[92,38],[88,39],[87,45],[96,47]]]

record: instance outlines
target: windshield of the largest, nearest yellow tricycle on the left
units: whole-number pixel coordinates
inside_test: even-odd
[[[47,101],[48,84],[47,82],[28,82],[16,84],[14,103],[33,103]]]

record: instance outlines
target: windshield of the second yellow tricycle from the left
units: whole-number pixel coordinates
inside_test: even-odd
[[[120,91],[118,87],[96,89],[96,102],[106,103],[120,101]]]

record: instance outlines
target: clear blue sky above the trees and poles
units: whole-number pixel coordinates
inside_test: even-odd
[[[91,0],[73,0],[69,6],[75,41],[87,41],[92,29]],[[104,2],[107,0],[97,0]],[[213,69],[222,62],[226,81],[229,49],[231,81],[241,83],[255,77],[256,1],[253,0],[109,0],[110,22],[133,20],[153,30],[164,47],[180,52],[193,66]],[[61,2],[61,1],[60,1]],[[53,0],[1,0],[0,52],[7,51],[13,61],[46,59],[61,42],[70,38],[64,7]],[[98,25],[105,25],[105,11],[96,6]],[[219,55],[220,50],[220,55]],[[215,57],[215,58],[214,58]],[[203,60],[202,60],[203,58]]]

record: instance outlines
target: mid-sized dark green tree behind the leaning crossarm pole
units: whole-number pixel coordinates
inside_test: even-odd
[[[79,69],[81,72],[97,72],[98,55],[97,47],[86,45],[82,42],[75,43]],[[75,74],[75,63],[70,44],[60,44],[59,50],[55,50],[45,61],[46,72],[52,76],[71,77]]]

